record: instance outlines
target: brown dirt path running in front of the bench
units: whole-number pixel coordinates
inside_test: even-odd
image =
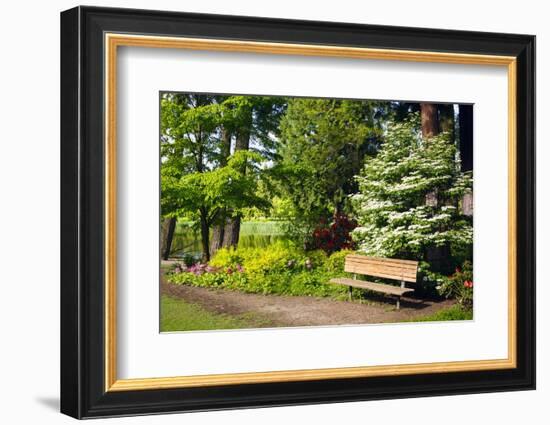
[[[360,323],[400,322],[416,316],[425,316],[450,307],[452,301],[423,301],[401,299],[401,309],[395,303],[336,301],[328,298],[258,295],[223,289],[161,283],[163,295],[198,304],[214,313],[231,315],[253,314],[275,326],[315,326]]]

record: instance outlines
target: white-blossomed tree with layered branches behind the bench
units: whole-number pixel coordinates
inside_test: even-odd
[[[368,157],[352,197],[358,249],[367,255],[426,260],[433,247],[449,246],[455,262],[471,255],[471,219],[460,200],[472,178],[460,171],[448,135],[423,140],[419,116],[391,124],[378,154]],[[427,202],[427,197],[436,202]],[[425,270],[424,270],[425,271]]]

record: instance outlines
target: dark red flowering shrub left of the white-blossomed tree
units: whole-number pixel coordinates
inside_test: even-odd
[[[357,227],[357,222],[345,214],[334,216],[332,223],[321,223],[314,231],[309,249],[322,249],[327,254],[342,249],[353,249],[351,231]]]

